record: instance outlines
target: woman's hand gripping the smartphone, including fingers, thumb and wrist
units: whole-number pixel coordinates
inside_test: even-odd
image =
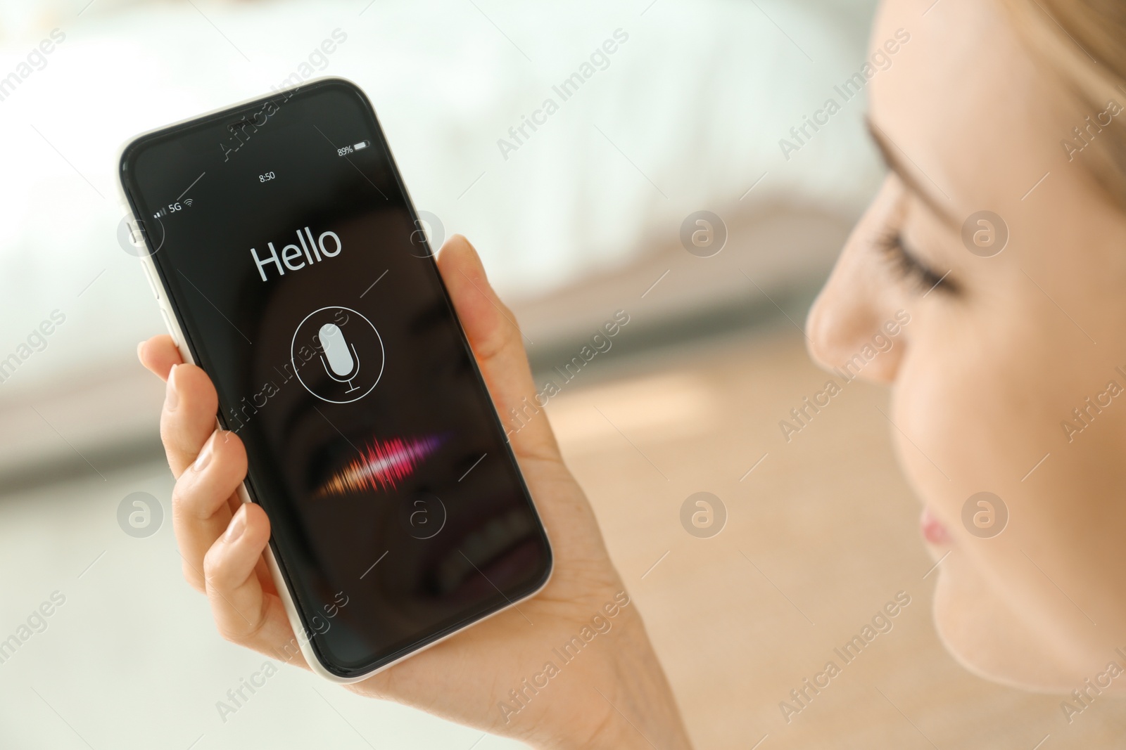
[[[438,266],[497,410],[508,414],[534,399],[520,332],[476,252],[464,237],[450,237]],[[172,517],[185,578],[207,595],[223,638],[307,668],[262,559],[269,519],[236,495],[247,454],[235,434],[215,430],[214,386],[203,370],[181,363],[169,336],[154,336],[137,352],[168,381],[160,432],[177,477]],[[515,432],[511,444],[552,540],[549,584],[519,611],[507,609],[349,689],[537,747],[689,747],[641,616],[632,603],[622,605],[625,587],[545,415]],[[610,629],[598,633],[606,623]],[[564,662],[555,650],[582,640],[584,629],[598,634]],[[551,677],[548,663],[557,671]]]

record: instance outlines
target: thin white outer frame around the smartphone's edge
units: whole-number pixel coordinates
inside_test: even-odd
[[[310,84],[319,83],[319,82],[322,82],[322,81],[343,81],[345,83],[348,83],[348,84],[354,85],[357,89],[359,89],[359,85],[357,85],[354,81],[350,81],[350,80],[348,80],[346,78],[342,78],[340,75],[321,75],[321,76],[318,76],[318,78],[310,79],[307,81],[303,81],[298,85],[291,87],[289,89],[279,89],[278,91],[274,92],[272,96],[280,96],[285,91],[303,89],[303,88],[305,88],[305,87],[307,87]],[[363,89],[360,89],[360,91],[363,91]],[[119,170],[119,166],[120,166],[120,163],[122,163],[122,156],[124,156],[125,151],[134,142],[136,142],[140,138],[143,138],[143,137],[146,137],[149,135],[152,135],[154,133],[159,133],[161,130],[166,130],[166,129],[168,129],[170,127],[177,127],[179,125],[185,125],[185,124],[191,123],[194,120],[198,120],[198,119],[202,119],[202,118],[205,118],[205,117],[211,117],[212,115],[217,115],[217,114],[226,111],[229,109],[238,109],[240,107],[245,107],[245,106],[252,105],[252,103],[254,103],[257,101],[261,101],[262,99],[263,99],[263,96],[260,94],[260,96],[257,96],[257,97],[251,97],[249,99],[243,99],[242,101],[238,101],[238,102],[234,102],[234,103],[231,103],[231,105],[226,105],[226,106],[223,106],[223,107],[217,107],[217,108],[211,109],[211,110],[208,110],[206,112],[202,112],[202,114],[195,115],[193,117],[187,117],[187,118],[184,118],[181,120],[177,120],[176,123],[169,123],[167,125],[162,125],[160,127],[151,128],[151,129],[145,130],[143,133],[138,133],[135,136],[133,136],[132,138],[127,139],[125,143],[123,143],[120,145],[120,147],[117,150],[117,156],[116,156],[116,160],[115,160],[114,163],[116,165],[115,169],[118,172],[118,179],[115,180],[116,186],[117,186],[117,199],[120,202],[120,207],[122,207],[122,210],[125,213],[125,216],[133,217],[134,222],[137,222],[140,219],[140,217],[133,211],[132,206],[129,206],[128,197],[125,193],[125,186],[123,184],[123,182],[120,180],[120,170]],[[397,162],[395,162],[394,154],[391,152],[391,144],[386,143],[386,137],[384,137],[384,143],[387,146],[387,153],[391,156],[392,164],[395,166],[395,171],[397,172]],[[412,209],[413,209],[414,201],[411,200],[411,196],[410,196],[410,192],[406,189],[405,181],[401,179],[401,175],[400,175],[399,182],[400,182],[400,184],[401,184],[401,187],[403,189],[404,196],[406,197],[408,205],[411,206]],[[133,229],[131,227],[131,235],[132,235],[132,232],[133,232]],[[437,251],[435,251],[435,253]],[[184,331],[182,331],[181,325],[180,325],[180,319],[179,319],[179,317],[177,317],[176,310],[172,308],[172,306],[168,304],[168,300],[169,300],[168,289],[164,287],[163,282],[161,281],[160,273],[157,272],[157,264],[152,260],[152,255],[153,254],[150,253],[150,252],[144,252],[144,253],[142,253],[140,255],[141,268],[144,271],[145,278],[149,281],[149,286],[152,288],[153,296],[157,298],[157,304],[160,306],[161,317],[164,318],[164,325],[168,328],[168,333],[169,333],[169,335],[172,336],[172,341],[176,343],[177,349],[180,351],[180,356],[182,358],[182,360],[185,362],[190,363],[190,364],[196,364],[195,358],[191,356],[191,351],[187,346],[187,340],[184,336]],[[461,323],[461,319],[457,318],[456,313],[455,313],[454,317],[455,317],[455,320],[457,320],[458,327],[461,327],[462,323]],[[465,336],[464,328],[462,331],[462,335]],[[466,337],[466,341],[468,341],[467,337]],[[486,389],[486,392],[488,392],[488,389]],[[490,395],[490,401],[491,400],[492,400],[492,398],[491,398],[491,395]],[[493,408],[495,410],[495,405],[493,405]],[[498,418],[499,418],[499,415],[498,415]],[[216,425],[216,428],[222,427],[222,425],[220,424],[218,417],[215,418],[215,425]],[[517,470],[520,471],[519,462],[517,462]],[[522,471],[520,471],[520,473],[521,473],[521,478],[522,478]],[[525,487],[527,487],[527,481],[525,481],[524,485],[525,485]],[[285,576],[282,575],[282,568],[278,564],[277,558],[274,554],[274,548],[271,545],[267,544],[266,545],[266,552],[265,552],[266,564],[267,564],[267,567],[270,570],[270,577],[274,579],[274,587],[277,589],[278,598],[282,599],[282,604],[285,607],[286,616],[289,618],[289,626],[293,629],[294,640],[297,641],[298,647],[301,648],[301,653],[305,658],[305,662],[309,665],[309,668],[314,674],[316,674],[318,676],[323,677],[324,679],[327,679],[327,680],[329,680],[331,683],[337,683],[337,684],[340,684],[340,685],[350,685],[352,683],[360,683],[360,681],[363,681],[363,680],[372,677],[373,675],[377,675],[377,674],[382,672],[385,669],[390,669],[390,668],[394,667],[395,665],[400,663],[401,661],[403,661],[405,659],[410,659],[414,654],[421,653],[422,651],[426,651],[427,649],[429,649],[431,647],[435,647],[435,645],[441,643],[443,641],[446,641],[447,639],[453,638],[454,635],[457,635],[458,633],[461,633],[463,630],[465,630],[467,627],[472,627],[473,625],[476,625],[476,624],[482,623],[482,622],[484,622],[484,621],[486,621],[486,620],[489,620],[491,617],[494,617],[494,616],[499,615],[502,612],[511,609],[511,608],[516,607],[516,605],[519,604],[520,602],[525,602],[527,599],[530,599],[531,597],[534,597],[534,596],[538,595],[540,591],[543,591],[544,588],[547,586],[547,584],[551,582],[552,576],[555,573],[555,551],[554,551],[554,545],[552,544],[552,541],[551,541],[551,535],[547,532],[547,526],[544,524],[543,517],[539,514],[539,509],[536,507],[536,500],[535,500],[534,497],[531,497],[531,490],[530,490],[530,488],[528,489],[528,496],[531,498],[531,512],[536,515],[536,519],[539,522],[540,527],[544,530],[544,535],[545,535],[545,539],[546,539],[546,542],[547,542],[548,568],[547,568],[547,576],[544,578],[544,582],[538,588],[536,588],[535,590],[529,591],[528,594],[526,594],[525,596],[521,596],[518,599],[509,599],[509,603],[506,606],[499,607],[494,612],[491,612],[488,615],[484,615],[483,617],[477,617],[476,620],[473,620],[471,622],[466,622],[465,624],[463,624],[459,627],[450,631],[449,633],[443,635],[441,638],[436,639],[434,641],[430,641],[429,643],[427,643],[425,645],[420,645],[419,648],[417,648],[417,649],[414,649],[414,650],[412,650],[412,651],[410,651],[410,652],[408,652],[408,653],[399,657],[394,661],[390,661],[390,662],[387,662],[387,663],[385,663],[385,665],[383,665],[381,667],[376,667],[375,669],[372,669],[372,670],[369,670],[367,672],[364,672],[363,675],[358,675],[358,676],[354,676],[354,677],[340,677],[339,675],[334,675],[331,671],[329,671],[323,663],[321,663],[320,658],[316,656],[316,651],[313,649],[312,644],[310,643],[310,641],[313,638],[315,638],[316,634],[314,633],[313,635],[309,635],[305,632],[305,626],[304,626],[304,623],[302,623],[301,615],[297,612],[297,605],[294,602],[293,593],[289,590],[289,585],[286,581]],[[253,500],[250,499],[250,494],[247,490],[247,482],[245,481],[243,481],[242,484],[239,485],[239,499],[241,499],[243,503],[252,503],[253,501]]]

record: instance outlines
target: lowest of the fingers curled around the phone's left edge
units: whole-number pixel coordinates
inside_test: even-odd
[[[232,643],[307,668],[285,607],[262,590],[254,572],[269,537],[265,510],[253,504],[239,508],[204,558],[212,615]]]

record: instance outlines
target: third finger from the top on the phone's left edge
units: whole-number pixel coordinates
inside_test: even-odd
[[[172,526],[184,558],[184,578],[200,591],[204,555],[226,530],[233,513],[230,499],[245,476],[242,441],[234,433],[216,430],[196,461],[176,480]]]

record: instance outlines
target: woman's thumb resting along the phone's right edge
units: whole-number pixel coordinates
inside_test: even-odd
[[[461,235],[452,236],[443,245],[438,269],[512,450],[517,455],[558,459],[555,436],[536,400],[520,329],[485,278],[473,245]]]

